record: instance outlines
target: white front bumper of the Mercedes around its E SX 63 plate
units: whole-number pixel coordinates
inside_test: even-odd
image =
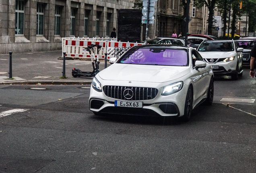
[[[106,82],[106,81],[105,81]],[[111,81],[110,81],[111,82]],[[110,83],[109,83],[110,84]],[[115,85],[115,83],[111,83]],[[108,85],[106,83],[105,85]],[[140,82],[133,82],[132,85],[142,86]],[[111,113],[124,115],[147,115],[147,116],[174,116],[179,117],[184,115],[184,107],[188,86],[183,85],[182,90],[168,96],[162,96],[162,87],[158,83],[144,83],[144,86],[151,86],[159,89],[157,96],[154,99],[140,100],[143,102],[142,108],[133,107],[115,107],[115,100],[124,101],[107,97],[102,92],[97,92],[91,87],[89,98],[89,109],[95,113]],[[118,83],[116,83],[118,86]],[[128,100],[126,100],[128,101]]]

